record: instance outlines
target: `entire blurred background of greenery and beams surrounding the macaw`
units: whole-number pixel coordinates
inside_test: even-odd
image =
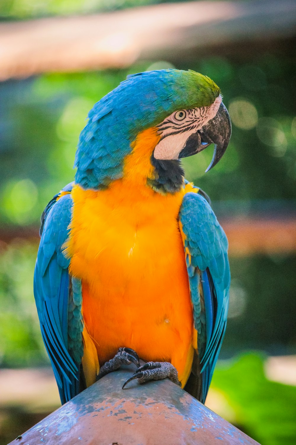
[[[58,404],[32,288],[40,214],[73,181],[93,104],[127,74],[174,67],[213,78],[233,122],[208,174],[210,149],[184,160],[229,237],[228,328],[206,405],[263,445],[295,444],[295,10],[288,0],[0,2],[1,445]]]

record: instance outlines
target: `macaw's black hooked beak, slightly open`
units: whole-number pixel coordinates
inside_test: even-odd
[[[205,150],[210,144],[214,144],[213,158],[209,167],[205,170],[207,172],[222,158],[229,144],[230,136],[231,121],[229,113],[223,102],[221,102],[216,116],[198,130],[197,133],[189,136],[178,158],[187,158]]]

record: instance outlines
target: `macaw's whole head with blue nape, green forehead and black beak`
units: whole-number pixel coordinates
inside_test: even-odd
[[[126,175],[135,180],[138,175],[155,191],[174,193],[183,184],[180,158],[213,143],[208,171],[225,153],[231,135],[220,89],[191,70],[128,76],[94,105],[88,118],[75,157],[75,182],[86,189],[104,189]]]

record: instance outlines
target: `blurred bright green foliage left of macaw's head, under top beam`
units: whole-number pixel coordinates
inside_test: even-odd
[[[0,84],[2,223],[39,221],[54,190],[74,178],[89,109],[121,80],[122,73],[83,73]]]

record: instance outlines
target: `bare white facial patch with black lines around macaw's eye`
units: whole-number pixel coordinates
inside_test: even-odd
[[[216,97],[208,107],[192,108],[175,111],[158,125],[161,140],[154,149],[155,159],[178,159],[180,151],[185,147],[189,136],[196,133],[213,117],[222,101],[221,95]]]

